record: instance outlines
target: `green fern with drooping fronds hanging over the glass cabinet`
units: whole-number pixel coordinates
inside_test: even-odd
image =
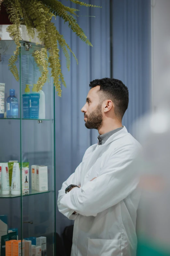
[[[80,6],[98,7],[77,0],[70,1]],[[3,5],[6,7],[9,20],[12,23],[12,25],[7,27],[7,31],[16,43],[14,55],[9,59],[10,71],[16,80],[19,81],[16,60],[18,59],[21,46],[20,26],[26,25],[28,34],[32,38],[34,38],[35,28],[38,32],[38,39],[45,45],[45,48],[42,48],[41,51],[34,53],[37,65],[41,65],[43,69],[41,77],[39,77],[37,81],[38,91],[42,89],[42,86],[47,81],[49,63],[56,91],[58,95],[61,96],[61,82],[64,86],[66,86],[66,84],[61,71],[59,46],[61,46],[66,57],[68,70],[70,69],[70,55],[68,51],[73,54],[77,63],[78,60],[69,45],[65,42],[63,35],[57,31],[54,23],[51,22],[51,19],[56,16],[61,17],[82,41],[92,46],[83,30],[78,26],[77,20],[74,18],[74,16],[78,16],[76,14],[78,10],[64,6],[58,0],[0,0],[0,4],[1,2],[3,2]],[[49,57],[47,55],[47,49],[49,50]]]

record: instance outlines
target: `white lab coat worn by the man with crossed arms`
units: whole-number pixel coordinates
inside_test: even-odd
[[[75,173],[63,183],[58,208],[75,220],[71,256],[136,255],[138,178],[130,165],[139,150],[140,144],[124,127],[104,145],[89,147]],[[81,188],[65,194],[70,184]]]

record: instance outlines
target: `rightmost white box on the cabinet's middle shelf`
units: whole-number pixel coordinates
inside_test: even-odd
[[[45,165],[36,166],[36,190],[48,190],[48,168]]]

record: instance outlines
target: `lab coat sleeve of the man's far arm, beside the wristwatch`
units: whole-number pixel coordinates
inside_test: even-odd
[[[70,209],[67,206],[61,205],[61,200],[66,195],[65,194],[66,187],[68,187],[71,184],[80,186],[80,177],[81,177],[80,172],[81,172],[81,163],[78,165],[75,172],[63,183],[61,190],[59,190],[58,201],[57,201],[59,212],[63,213],[67,218],[73,219],[73,220],[76,219],[78,213],[73,214],[74,210]]]

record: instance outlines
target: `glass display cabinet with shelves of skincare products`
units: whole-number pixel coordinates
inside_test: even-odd
[[[0,31],[6,31],[6,28],[2,28],[1,25]],[[7,253],[5,250],[10,250],[12,246],[11,250],[19,248],[19,252],[18,254],[11,252],[10,255],[53,256],[55,255],[54,86],[53,79],[49,75],[42,88],[43,92],[37,94],[33,89],[41,75],[41,68],[37,66],[33,53],[36,50],[40,51],[43,46],[36,44],[36,40],[31,42],[28,36],[24,40],[23,35],[24,33],[21,34],[20,54],[16,62],[20,78],[17,82],[8,67],[8,60],[13,55],[16,45],[11,38],[8,38],[7,32],[2,34],[0,32],[1,110],[5,103],[4,115],[3,111],[0,112],[0,255],[9,255],[5,254]],[[30,91],[25,90],[26,84],[29,85],[27,88],[30,88]],[[14,92],[18,103],[14,98]],[[32,99],[31,95],[34,97],[38,95],[38,100],[34,97]],[[41,116],[40,110],[45,111]],[[17,239],[21,242],[17,242]],[[32,254],[30,250],[34,253]]]

